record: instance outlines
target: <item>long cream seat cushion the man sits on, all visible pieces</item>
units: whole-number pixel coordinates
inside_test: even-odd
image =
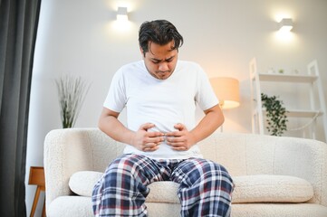
[[[69,186],[73,193],[91,196],[103,173],[80,171],[73,174]],[[313,186],[304,179],[288,175],[242,175],[233,177],[233,203],[303,203],[313,197]],[[149,184],[148,203],[179,203],[178,184]]]

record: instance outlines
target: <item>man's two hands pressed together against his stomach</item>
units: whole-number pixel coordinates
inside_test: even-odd
[[[186,151],[196,144],[194,136],[183,124],[176,124],[174,127],[177,131],[168,133],[149,132],[148,129],[151,127],[155,127],[155,125],[151,123],[141,125],[131,144],[144,152],[156,151],[164,141],[176,151]]]

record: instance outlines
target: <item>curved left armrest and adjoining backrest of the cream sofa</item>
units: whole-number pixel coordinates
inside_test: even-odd
[[[46,207],[57,197],[71,195],[69,179],[78,171],[103,172],[123,146],[98,128],[50,131],[44,139]]]

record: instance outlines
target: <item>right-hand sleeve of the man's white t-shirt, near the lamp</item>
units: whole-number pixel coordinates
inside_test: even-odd
[[[197,94],[196,100],[198,106],[202,110],[210,109],[216,106],[219,103],[219,100],[216,98],[216,94],[212,89],[209,79],[205,71],[199,67],[197,73]]]

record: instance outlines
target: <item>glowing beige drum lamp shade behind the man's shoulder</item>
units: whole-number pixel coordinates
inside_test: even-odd
[[[211,86],[219,99],[222,109],[233,109],[239,103],[239,82],[233,78],[216,77],[210,79]]]

